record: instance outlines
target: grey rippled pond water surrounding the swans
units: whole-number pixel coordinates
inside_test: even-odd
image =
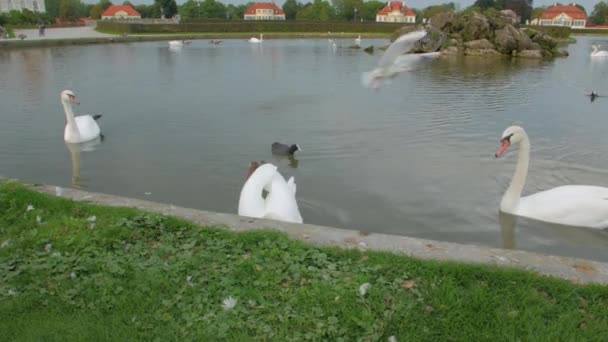
[[[306,223],[608,261],[608,234],[502,217],[516,153],[531,139],[524,194],[608,186],[608,60],[577,37],[554,61],[440,58],[379,92],[361,85],[380,54],[327,40],[194,41],[0,51],[0,175],[236,213],[247,167],[295,176]],[[387,40],[365,40],[384,45]],[[63,142],[59,92],[103,114],[106,139]],[[298,143],[297,160],[271,155]]]

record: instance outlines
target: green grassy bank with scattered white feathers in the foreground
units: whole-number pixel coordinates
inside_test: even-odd
[[[0,183],[0,213],[6,341],[608,336],[605,286],[198,227],[17,183]]]

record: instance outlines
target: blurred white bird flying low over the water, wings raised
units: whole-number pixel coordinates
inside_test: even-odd
[[[378,67],[362,75],[363,85],[368,88],[378,89],[381,82],[385,79],[393,78],[397,74],[408,70],[411,62],[423,60],[426,57],[435,57],[439,53],[431,52],[427,54],[408,54],[414,44],[427,35],[426,30],[417,30],[406,33],[395,40],[384,52],[378,62]]]

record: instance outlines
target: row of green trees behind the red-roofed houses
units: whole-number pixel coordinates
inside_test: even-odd
[[[598,2],[593,11],[588,13],[588,20],[592,24],[608,24],[608,0]],[[142,16],[142,18],[166,18],[179,14],[185,19],[228,19],[241,20],[249,5],[224,4],[217,0],[188,0],[182,5],[177,5],[175,0],[154,0],[152,4],[133,5],[125,1],[123,5],[131,5]],[[46,13],[34,13],[27,9],[23,11],[11,11],[0,15],[0,25],[24,25],[34,24],[42,18],[46,22],[61,18],[65,21],[75,21],[78,18],[90,17],[100,19],[101,14],[112,5],[110,0],[100,0],[96,4],[85,4],[81,0],[45,0]],[[376,13],[386,5],[385,1],[371,0],[312,0],[312,2],[299,2],[287,0],[282,6],[287,20],[363,20],[375,21]],[[546,7],[533,8],[533,0],[476,0],[475,3],[464,11],[493,11],[511,9],[521,18],[522,22],[538,18]],[[586,13],[586,9],[580,6]],[[412,10],[416,13],[416,19],[420,22],[423,18],[432,18],[442,12],[455,12],[460,8],[454,2],[432,5],[423,9]]]

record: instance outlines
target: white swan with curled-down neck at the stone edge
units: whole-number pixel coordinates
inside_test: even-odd
[[[266,198],[262,196],[263,190],[268,192]],[[238,213],[240,216],[302,223],[294,178],[286,182],[273,164],[257,167],[241,190]]]

